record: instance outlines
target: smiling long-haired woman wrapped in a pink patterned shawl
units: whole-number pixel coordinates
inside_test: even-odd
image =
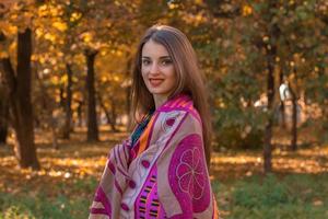
[[[171,26],[150,27],[133,70],[138,125],[110,151],[90,218],[218,218],[206,100],[188,38]]]

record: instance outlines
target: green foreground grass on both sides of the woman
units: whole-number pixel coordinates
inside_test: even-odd
[[[233,219],[325,219],[328,218],[328,174],[253,175],[230,183],[213,181],[222,218]],[[97,178],[78,180],[71,186],[28,186],[19,194],[0,193],[0,218],[86,218]],[[70,189],[70,193],[60,193]],[[79,195],[82,194],[82,195]]]

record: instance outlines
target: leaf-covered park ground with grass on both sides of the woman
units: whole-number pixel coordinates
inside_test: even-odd
[[[21,170],[12,147],[0,148],[0,218],[87,218],[110,148],[126,134],[102,132],[85,143],[83,131],[60,141],[37,135],[39,171]],[[328,218],[328,147],[276,149],[273,174],[263,176],[261,151],[213,153],[211,181],[222,218]]]

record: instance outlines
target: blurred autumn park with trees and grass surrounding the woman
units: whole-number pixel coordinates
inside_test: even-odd
[[[1,0],[0,218],[87,217],[156,23],[207,76],[221,217],[328,218],[326,0]]]

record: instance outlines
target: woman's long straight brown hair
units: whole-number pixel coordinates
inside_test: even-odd
[[[132,115],[136,120],[140,115],[155,110],[153,95],[147,89],[141,74],[141,56],[143,45],[153,41],[163,45],[172,57],[177,76],[176,88],[169,97],[179,93],[187,93],[194,101],[194,106],[199,112],[202,120],[202,135],[204,151],[209,164],[211,154],[212,126],[208,104],[208,94],[204,85],[204,77],[198,68],[195,50],[187,36],[179,30],[167,25],[154,25],[150,27],[141,38],[133,69],[132,80]]]

